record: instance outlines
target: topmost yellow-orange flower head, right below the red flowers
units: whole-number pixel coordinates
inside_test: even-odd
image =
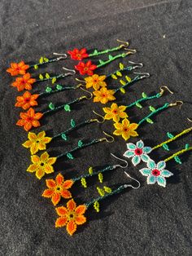
[[[104,82],[106,76],[98,76],[97,74],[94,74],[91,77],[86,77],[85,82],[86,82],[86,88],[93,87],[94,90],[98,90],[100,87],[107,86],[107,83]]]

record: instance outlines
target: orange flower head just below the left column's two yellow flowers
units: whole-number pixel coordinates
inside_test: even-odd
[[[72,197],[68,188],[71,188],[73,184],[72,179],[64,180],[62,174],[58,174],[54,179],[46,179],[47,189],[44,190],[42,196],[50,198],[54,205],[57,205],[61,200],[61,197],[69,199]]]

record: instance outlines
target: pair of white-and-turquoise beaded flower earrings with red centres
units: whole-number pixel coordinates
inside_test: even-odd
[[[152,151],[157,148],[163,147],[165,150],[169,151],[168,143],[178,139],[182,135],[190,133],[192,127],[181,131],[177,135],[172,135],[168,132],[168,140],[165,140],[163,143],[159,143],[153,148],[145,146],[142,140],[137,141],[136,144],[127,143],[128,150],[124,152],[124,157],[132,158],[133,166],[137,166],[141,161],[146,163],[146,167],[140,169],[140,173],[147,177],[147,184],[158,183],[161,187],[166,187],[166,178],[171,177],[173,174],[169,170],[166,170],[166,162],[174,159],[177,163],[181,164],[181,159],[178,157],[185,152],[189,152],[192,147],[189,143],[185,144],[185,148],[181,149],[178,152],[172,154],[172,156],[165,158],[163,161],[159,161],[157,164],[155,161],[148,156]]]

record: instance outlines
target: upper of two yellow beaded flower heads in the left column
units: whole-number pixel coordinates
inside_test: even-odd
[[[39,150],[45,150],[46,144],[50,143],[52,138],[46,137],[45,130],[41,131],[37,135],[33,132],[28,133],[28,140],[25,141],[22,145],[24,148],[30,148],[31,154],[37,153]]]

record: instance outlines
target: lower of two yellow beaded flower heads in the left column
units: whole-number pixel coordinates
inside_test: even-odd
[[[53,164],[57,160],[57,157],[50,157],[48,152],[41,154],[41,157],[37,155],[31,156],[33,162],[32,165],[28,166],[27,171],[36,174],[37,179],[41,179],[45,174],[51,174],[54,172]]]

